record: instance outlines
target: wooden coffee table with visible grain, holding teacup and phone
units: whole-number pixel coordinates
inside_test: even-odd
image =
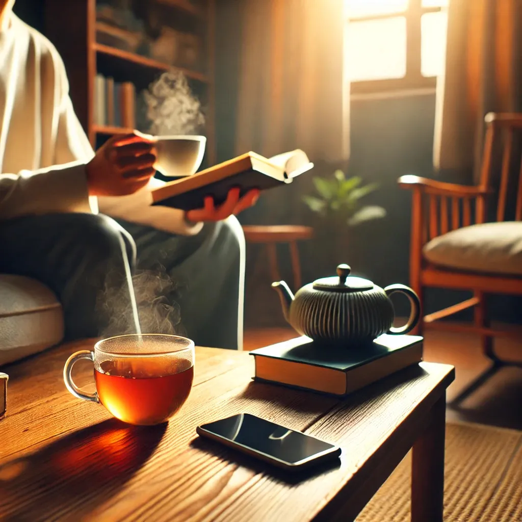
[[[421,363],[346,400],[253,383],[246,352],[196,348],[195,382],[168,424],[136,427],[70,395],[63,346],[9,374],[0,421],[2,520],[350,520],[413,446],[412,520],[442,520],[445,390]],[[79,385],[92,367],[77,364]],[[250,412],[342,447],[340,465],[292,478],[196,435]]]

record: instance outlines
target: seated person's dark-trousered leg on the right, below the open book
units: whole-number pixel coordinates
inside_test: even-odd
[[[135,287],[144,331],[168,332],[181,319],[174,331],[198,345],[242,348],[245,247],[239,222],[231,217],[206,223],[188,237],[118,223],[136,242]],[[170,299],[159,299],[165,294]]]

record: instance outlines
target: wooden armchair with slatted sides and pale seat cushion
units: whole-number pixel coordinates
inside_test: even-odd
[[[478,186],[442,183],[413,175],[398,180],[402,188],[412,191],[410,285],[418,293],[421,303],[424,290],[429,287],[473,292],[473,296],[464,302],[424,315],[418,327],[419,333],[422,333],[422,328],[433,328],[479,334],[481,348],[492,362],[486,372],[459,394],[453,401],[454,405],[468,397],[501,367],[522,366],[520,362],[505,361],[496,355],[493,338],[520,338],[520,331],[493,329],[485,302],[487,294],[522,295],[522,160],[515,139],[522,132],[522,114],[489,113],[485,123],[487,130]],[[501,145],[500,149],[496,148],[497,144]],[[496,190],[492,170],[497,150],[502,152],[502,161]],[[516,163],[516,169],[512,168],[513,163]],[[512,172],[515,176],[510,177]],[[496,209],[492,207],[490,210],[495,210],[496,223],[490,224],[487,223],[488,204],[495,199]],[[477,226],[471,227],[472,224]],[[512,248],[515,257],[507,259],[506,252],[499,251],[486,266],[488,255],[493,256],[495,250],[493,248],[489,254],[481,255],[480,245],[487,247],[504,238],[508,238],[506,241],[511,238],[517,245]],[[459,241],[468,241],[467,251],[461,248],[458,252]],[[470,325],[440,321],[470,307],[474,308],[474,321]]]

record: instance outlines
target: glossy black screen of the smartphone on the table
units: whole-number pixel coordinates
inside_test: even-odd
[[[201,429],[289,464],[296,464],[336,448],[333,444],[283,428],[250,413],[240,413],[210,422],[201,426]]]

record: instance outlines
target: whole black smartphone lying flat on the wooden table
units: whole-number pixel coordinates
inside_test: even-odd
[[[287,471],[298,471],[341,454],[341,448],[250,413],[197,426],[196,432]]]

